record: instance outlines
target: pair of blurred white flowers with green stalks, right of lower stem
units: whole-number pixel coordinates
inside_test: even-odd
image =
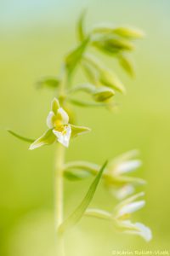
[[[111,191],[111,195],[119,201],[113,212],[107,212],[103,209],[88,208],[85,215],[94,218],[103,218],[111,221],[116,230],[122,233],[137,235],[150,241],[152,238],[151,230],[142,223],[133,223],[131,220],[132,213],[144,207],[145,201],[138,200],[144,196],[141,192],[132,195],[139,185],[144,185],[144,179],[129,176],[128,174],[136,171],[142,162],[137,158],[138,150],[131,150],[111,160],[105,167],[103,180],[106,189]],[[86,162],[75,161],[65,164],[65,177],[69,179],[82,179],[90,174],[99,173],[100,166]],[[129,197],[129,195],[131,195]]]

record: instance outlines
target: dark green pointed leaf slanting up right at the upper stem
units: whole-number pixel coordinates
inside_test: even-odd
[[[84,39],[76,49],[71,51],[71,53],[66,56],[65,67],[69,75],[71,75],[75,67],[77,67],[77,63],[81,60],[82,55],[88,46],[88,42],[89,42],[89,37]]]

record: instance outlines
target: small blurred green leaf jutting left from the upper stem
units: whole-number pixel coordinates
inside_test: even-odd
[[[37,87],[38,88],[51,88],[51,89],[56,89],[59,84],[61,83],[61,80],[57,77],[46,77],[42,78],[37,82]]]

